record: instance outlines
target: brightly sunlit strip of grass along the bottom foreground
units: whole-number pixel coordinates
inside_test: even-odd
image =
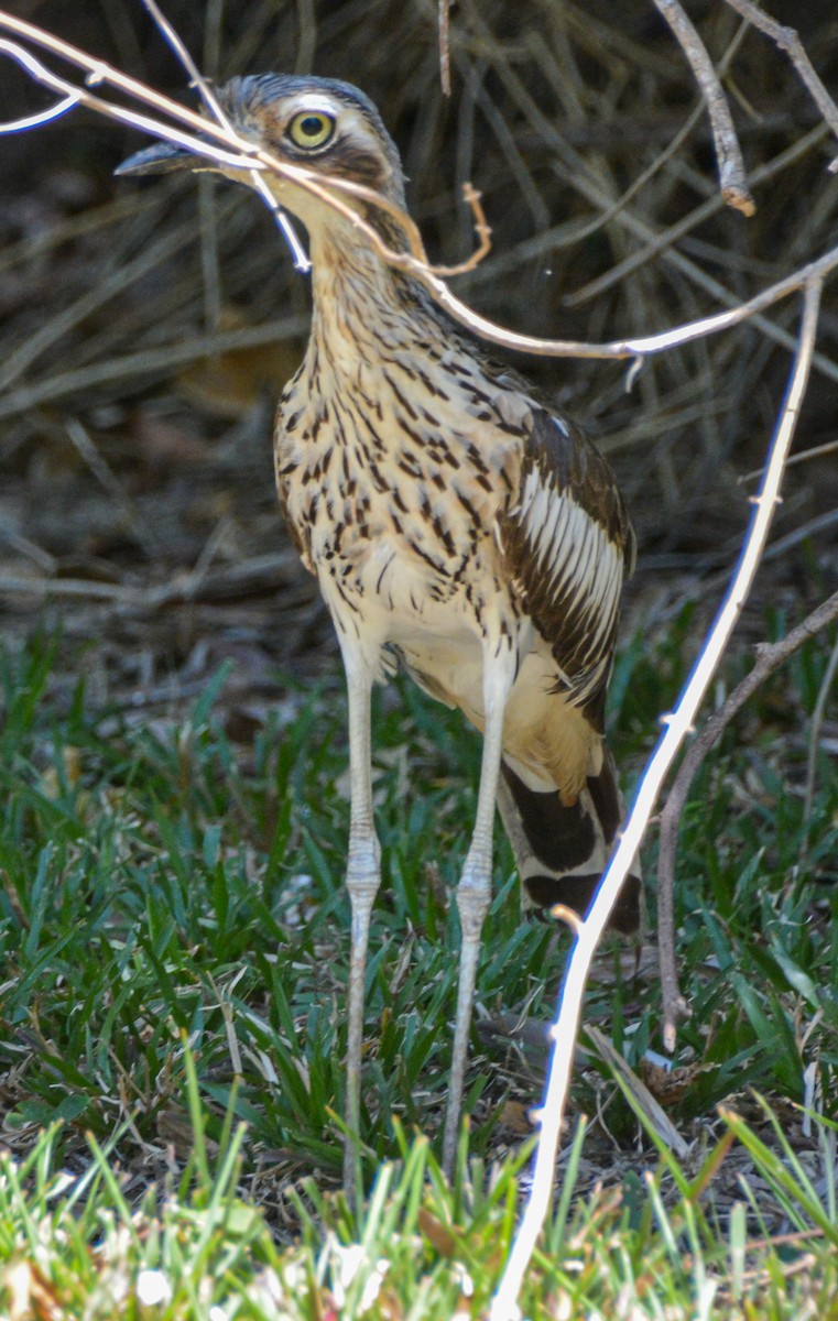
[[[17,1300],[16,1316],[443,1321],[485,1310],[514,1231],[519,1161],[488,1181],[482,1161],[467,1165],[463,1151],[448,1188],[427,1140],[402,1140],[400,1160],[379,1169],[362,1219],[313,1178],[289,1189],[300,1231],[283,1247],[263,1210],[237,1193],[243,1125],[227,1125],[210,1159],[197,1079],[188,1074],[192,1156],[136,1203],[123,1193],[112,1152],[93,1137],[77,1177],[58,1169],[56,1128],[21,1164],[0,1157],[4,1301]],[[833,1170],[821,1190],[781,1129],[775,1151],[735,1116],[727,1122],[693,1180],[661,1149],[642,1184],[575,1198],[580,1123],[523,1285],[523,1313],[533,1321],[837,1316],[834,1127],[816,1128],[823,1168]],[[755,1157],[757,1189],[743,1180],[720,1223],[702,1198],[734,1136]],[[674,1196],[665,1193],[667,1177]],[[782,1201],[789,1229],[757,1238],[748,1217],[759,1223],[767,1196]]]

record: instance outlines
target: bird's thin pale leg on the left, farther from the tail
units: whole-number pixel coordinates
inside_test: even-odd
[[[350,823],[346,889],[352,905],[352,955],[349,963],[349,1032],[346,1042],[348,1127],[344,1148],[344,1186],[354,1198],[360,1165],[361,1049],[363,1044],[363,979],[373,901],[381,884],[381,847],[373,820],[370,765],[370,694],[373,668],[365,657],[344,646],[349,694]]]

